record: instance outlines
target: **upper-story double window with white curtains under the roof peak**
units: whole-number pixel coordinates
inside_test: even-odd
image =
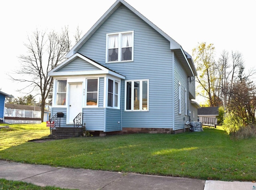
[[[133,60],[133,31],[107,34],[106,63]]]

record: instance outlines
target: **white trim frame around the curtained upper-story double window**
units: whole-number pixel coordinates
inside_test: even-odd
[[[125,33],[132,33],[132,60],[121,61],[121,54],[122,54],[122,34]],[[108,61],[108,36],[118,34],[118,61]],[[124,31],[124,32],[117,32],[117,33],[107,33],[106,34],[106,63],[117,63],[117,62],[130,62],[133,61],[134,55],[134,31]]]

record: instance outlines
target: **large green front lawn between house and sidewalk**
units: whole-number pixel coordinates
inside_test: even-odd
[[[13,139],[9,134],[6,141],[16,141],[18,134],[26,131],[36,132],[25,127],[16,130]],[[1,143],[6,132],[6,129],[0,130]],[[205,180],[256,180],[256,139],[233,140],[221,128],[176,135],[78,137],[44,143],[22,139],[23,143],[20,140],[15,146],[4,145],[0,159]]]

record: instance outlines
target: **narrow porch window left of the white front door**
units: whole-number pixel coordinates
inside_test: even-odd
[[[56,105],[66,105],[67,80],[57,80]]]

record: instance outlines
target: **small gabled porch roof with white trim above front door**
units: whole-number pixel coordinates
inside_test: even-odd
[[[74,61],[75,59],[77,59],[78,57],[80,57],[81,59],[83,59],[84,61],[94,65],[97,70],[90,70],[90,71],[70,71],[70,72],[61,72],[59,71],[60,69],[62,69],[63,67],[65,67],[66,65],[68,65],[69,63],[71,63],[72,61]],[[59,72],[58,72],[59,71]],[[55,67],[54,69],[52,69],[51,71],[48,72],[49,76],[65,76],[65,75],[81,75],[81,74],[110,74],[112,76],[116,76],[118,78],[122,78],[125,79],[125,76],[122,74],[119,74],[118,72],[112,71],[111,69],[108,69],[107,67],[105,67],[104,65],[101,65],[100,63],[90,59],[89,57],[86,57],[80,53],[75,53],[74,55],[72,55],[70,58],[68,58],[66,61],[64,61],[63,63],[61,63],[60,65],[58,65],[57,67]]]

